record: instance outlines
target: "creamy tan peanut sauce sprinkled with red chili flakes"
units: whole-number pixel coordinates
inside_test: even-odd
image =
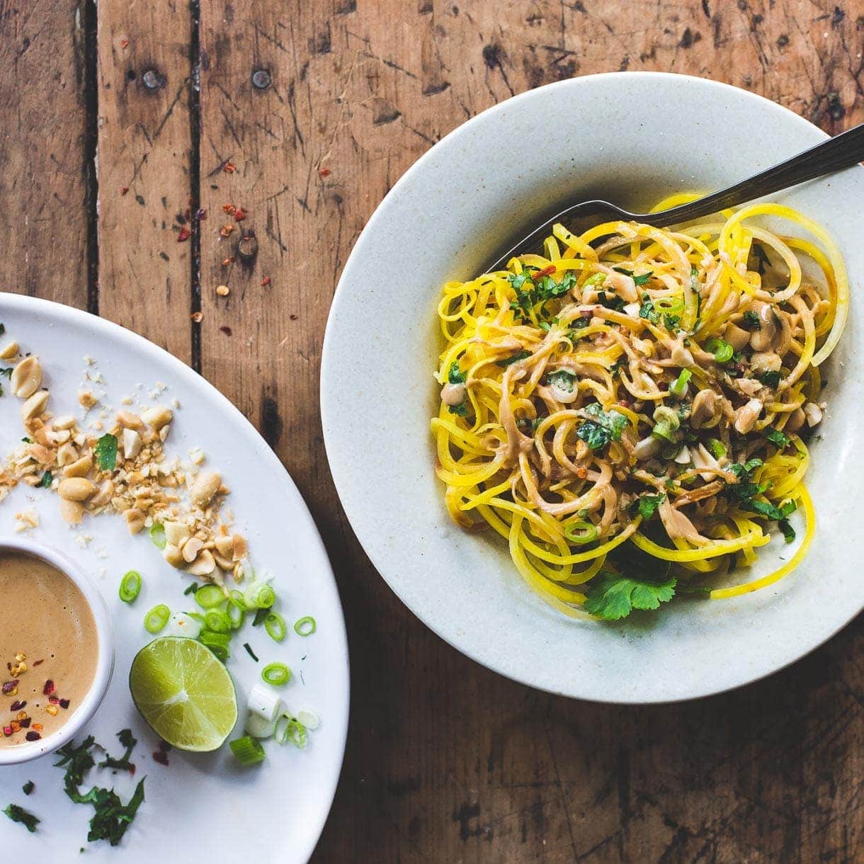
[[[0,746],[59,729],[90,689],[97,655],[96,622],[78,586],[41,558],[0,551],[0,682],[7,691],[0,693]]]

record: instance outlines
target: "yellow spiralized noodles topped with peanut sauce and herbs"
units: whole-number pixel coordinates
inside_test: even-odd
[[[592,617],[608,574],[713,599],[773,584],[815,530],[804,433],[847,312],[840,251],[786,206],[674,230],[554,226],[542,254],[443,286],[432,431],[448,513],[504,537],[572,618]],[[778,523],[791,540],[795,509],[806,528],[783,567],[717,584],[758,565]]]

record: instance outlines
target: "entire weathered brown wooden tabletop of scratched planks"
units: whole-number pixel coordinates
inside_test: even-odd
[[[376,575],[340,511],[318,410],[346,256],[448,130],[549,81],[662,69],[839,132],[864,120],[861,12],[850,0],[0,6],[0,285],[119,321],[193,365],[276,449],[327,543],[353,710],[316,861],[864,860],[860,619],[791,669],[701,702],[616,708],[505,681]]]

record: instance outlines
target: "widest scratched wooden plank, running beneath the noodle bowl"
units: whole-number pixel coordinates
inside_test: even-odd
[[[864,854],[860,624],[765,683],[683,706],[597,706],[505,681],[443,645],[375,575],[340,516],[315,386],[353,240],[455,125],[533,86],[630,68],[727,80],[838,131],[864,119],[854,15],[809,0],[202,3],[202,371],[307,497],[352,640],[352,729],[317,860]],[[252,84],[261,70],[269,86]],[[241,230],[257,256],[223,265]]]

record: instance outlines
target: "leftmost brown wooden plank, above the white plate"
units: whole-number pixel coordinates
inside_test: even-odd
[[[0,290],[87,305],[83,0],[0,5]]]

